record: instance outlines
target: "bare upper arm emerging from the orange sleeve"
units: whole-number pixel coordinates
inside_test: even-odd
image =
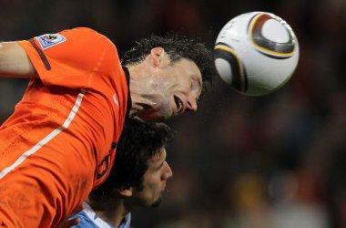
[[[36,77],[33,64],[17,42],[0,43],[0,77]]]

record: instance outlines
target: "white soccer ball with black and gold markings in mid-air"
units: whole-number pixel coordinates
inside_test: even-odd
[[[285,85],[300,56],[290,26],[265,12],[231,19],[219,32],[213,52],[220,78],[249,96],[269,94]]]

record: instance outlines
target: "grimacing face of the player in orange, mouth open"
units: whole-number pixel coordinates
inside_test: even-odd
[[[185,111],[196,111],[202,90],[202,76],[197,65],[180,58],[171,62],[167,55],[158,56],[158,67],[152,67],[144,82],[148,107],[139,117],[145,120],[169,119]]]

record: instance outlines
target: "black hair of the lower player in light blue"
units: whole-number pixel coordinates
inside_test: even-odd
[[[135,187],[142,189],[148,160],[165,147],[174,132],[164,123],[127,119],[117,144],[116,159],[106,181],[90,193],[90,198],[108,201],[112,190]]]

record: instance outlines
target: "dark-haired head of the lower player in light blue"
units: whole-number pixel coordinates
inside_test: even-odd
[[[172,176],[165,146],[173,136],[166,124],[128,119],[117,144],[113,168],[107,180],[91,192],[91,200],[111,203],[121,198],[129,208],[157,206],[166,181]]]

